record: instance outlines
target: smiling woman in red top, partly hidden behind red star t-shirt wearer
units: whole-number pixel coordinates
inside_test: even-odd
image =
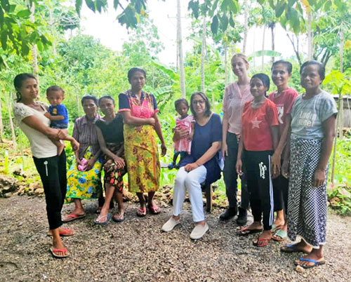
[[[286,144],[286,135],[283,135],[284,128],[286,128],[286,116],[291,112],[291,107],[293,107],[293,102],[298,93],[293,88],[289,88],[288,81],[291,78],[291,71],[293,66],[290,62],[284,60],[279,60],[274,62],[272,65],[272,81],[277,86],[277,90],[274,90],[268,96],[275,105],[277,105],[278,110],[278,120],[279,120],[279,145],[274,151],[272,156],[272,175],[273,180],[273,193],[274,193],[274,211],[277,212],[277,219],[272,225],[272,231],[277,230],[273,235],[274,241],[284,241],[286,239],[286,228],[287,222],[284,216],[284,211],[286,214],[288,206],[288,188],[289,180],[283,177],[279,173],[280,167],[280,156],[284,150]],[[278,168],[278,169],[277,169]]]

